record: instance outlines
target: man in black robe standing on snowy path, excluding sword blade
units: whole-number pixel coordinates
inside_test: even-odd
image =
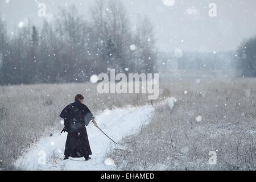
[[[66,106],[60,113],[60,117],[64,119],[64,131],[68,132],[68,137],[65,144],[65,159],[69,156],[72,158],[84,157],[85,160],[91,159],[92,155],[86,127],[90,121],[94,126],[98,127],[94,120],[93,114],[88,107],[82,104],[84,97],[77,94],[75,102]]]

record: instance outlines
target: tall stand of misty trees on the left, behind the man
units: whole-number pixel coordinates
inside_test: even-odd
[[[82,82],[109,68],[155,72],[148,18],[138,18],[134,31],[121,1],[96,0],[91,11],[86,20],[74,5],[60,9],[52,22],[19,28],[12,38],[0,17],[0,84]]]

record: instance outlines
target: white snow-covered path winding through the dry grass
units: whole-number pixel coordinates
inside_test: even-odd
[[[174,106],[175,98],[168,98],[158,105],[168,103],[170,107]],[[124,108],[115,108],[113,110],[104,110],[96,114],[98,126],[108,134],[115,142],[121,140],[126,134],[135,134],[142,125],[150,121],[154,113],[152,105],[139,107],[127,106]],[[85,162],[84,158],[64,158],[65,140],[67,133],[53,134],[52,137],[46,137],[39,140],[35,146],[31,147],[27,154],[20,156],[16,160],[15,166],[24,170],[112,170],[116,169],[111,165],[112,161],[105,162],[106,151],[110,147],[118,147],[109,138],[101,133],[92,123],[86,127],[90,147],[92,150],[92,159]]]

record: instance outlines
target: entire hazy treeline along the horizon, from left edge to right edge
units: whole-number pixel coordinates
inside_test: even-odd
[[[0,15],[0,84],[85,82],[108,73],[156,73],[173,69],[236,69],[237,76],[256,77],[256,36],[229,52],[183,52],[156,47],[154,25],[138,16],[131,25],[118,0],[95,1],[90,15],[75,5],[60,8],[40,27],[31,22],[7,32]]]

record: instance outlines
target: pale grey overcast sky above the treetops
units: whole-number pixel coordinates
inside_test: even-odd
[[[75,3],[80,13],[89,17],[95,0],[0,0],[0,12],[9,31],[29,18],[36,25],[38,3],[46,4],[48,17],[55,16],[59,6]],[[125,3],[132,24],[138,14],[150,17],[155,26],[157,46],[163,51],[228,51],[241,41],[256,35],[255,0],[120,0]],[[216,3],[217,16],[210,17],[209,3]]]

